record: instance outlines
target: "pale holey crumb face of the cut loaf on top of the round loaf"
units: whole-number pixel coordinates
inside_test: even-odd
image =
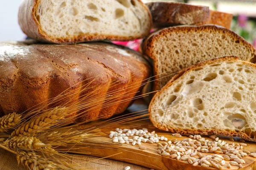
[[[149,29],[150,15],[138,0],[42,0],[36,18],[44,34],[139,37]]]

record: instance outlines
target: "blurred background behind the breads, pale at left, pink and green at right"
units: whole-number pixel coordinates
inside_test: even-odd
[[[23,40],[25,34],[17,23],[17,13],[22,0],[0,0],[0,41]],[[157,0],[143,0],[144,3]],[[233,14],[231,30],[256,48],[256,0],[161,0],[209,6],[212,10]]]

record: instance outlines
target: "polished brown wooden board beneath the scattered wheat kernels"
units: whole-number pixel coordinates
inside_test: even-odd
[[[93,125],[93,123],[92,123]],[[132,164],[137,164],[141,165],[144,167],[152,168],[154,170],[205,170],[205,169],[215,169],[212,167],[201,167],[197,166],[194,167],[192,164],[189,164],[187,161],[181,161],[177,159],[171,159],[169,157],[161,156],[160,154],[157,153],[157,144],[149,144],[149,143],[143,143],[141,142],[142,146],[145,146],[147,149],[146,150],[140,150],[139,145],[134,145],[132,146],[130,144],[115,144],[112,142],[112,139],[108,137],[109,133],[111,130],[115,130],[115,128],[125,128],[129,127],[129,129],[142,129],[142,128],[148,128],[148,131],[155,131],[158,136],[165,136],[169,140],[172,139],[178,139],[182,140],[184,138],[188,138],[188,136],[182,136],[182,137],[175,137],[172,136],[172,133],[168,133],[162,130],[156,129],[150,122],[150,120],[142,120],[138,122],[131,122],[131,123],[126,123],[125,125],[122,125],[121,127],[107,127],[105,129],[102,129],[104,132],[100,132],[97,134],[95,138],[92,139],[92,142],[87,143],[90,145],[90,147],[83,147],[83,145],[78,145],[78,146],[73,146],[73,148],[70,150],[70,152],[73,153],[84,153],[86,155],[90,156],[97,156],[97,157],[108,157],[109,159],[115,159],[119,161],[124,161]],[[206,139],[209,139],[207,136],[203,136]],[[225,140],[227,142],[231,142],[227,137],[220,136],[219,137],[221,140]],[[234,138],[235,141],[234,143],[241,143],[239,139]],[[212,140],[212,139],[209,139]],[[164,141],[160,141],[164,142]],[[105,144],[106,145],[105,145]],[[246,150],[249,150],[250,152],[256,152],[256,143],[254,142],[244,142],[247,144],[247,146],[244,146],[243,148]],[[95,144],[102,145],[102,147],[96,147]],[[109,146],[107,144],[110,144]],[[103,147],[104,145],[104,147]],[[117,154],[117,155],[115,155]],[[208,155],[208,154],[215,154],[215,153],[202,153],[203,155]],[[111,156],[113,155],[113,156]],[[224,155],[224,154],[221,154]],[[197,158],[197,156],[195,157]],[[251,156],[244,156],[243,157],[245,164],[243,164],[243,168],[239,168],[238,166],[231,166],[230,169],[227,168],[227,162],[224,166],[222,166],[222,169],[224,170],[256,170],[256,158],[251,157]],[[216,169],[215,169],[216,170]]]

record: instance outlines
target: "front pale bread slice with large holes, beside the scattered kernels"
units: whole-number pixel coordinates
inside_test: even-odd
[[[238,57],[198,63],[151,100],[151,122],[172,133],[222,134],[256,142],[256,65]]]

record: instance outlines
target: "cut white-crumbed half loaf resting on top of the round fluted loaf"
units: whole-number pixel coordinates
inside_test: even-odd
[[[18,20],[28,37],[54,43],[134,40],[152,25],[141,0],[23,0]]]

